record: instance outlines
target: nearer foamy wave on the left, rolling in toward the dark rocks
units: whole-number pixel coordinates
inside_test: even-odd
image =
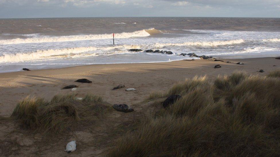
[[[139,49],[137,45],[118,45],[109,47],[73,47],[65,49],[48,49],[37,50],[28,53],[16,53],[16,54],[4,54],[0,56],[0,63],[7,62],[22,62],[22,61],[34,61],[34,60],[47,60],[47,59],[59,59],[67,57],[88,57],[100,54],[111,55],[116,53],[123,53],[127,49]],[[115,50],[115,51],[109,51]],[[108,53],[104,51],[109,51]]]

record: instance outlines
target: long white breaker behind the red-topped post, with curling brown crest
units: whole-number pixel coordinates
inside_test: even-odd
[[[151,28],[151,29],[143,29],[141,31],[134,31],[130,33],[127,32],[116,33],[115,38],[147,37],[150,35],[154,35],[156,33],[160,33],[160,31]],[[27,39],[17,38],[17,39],[0,40],[0,45],[19,44],[19,43],[81,41],[81,40],[96,40],[96,39],[111,39],[111,38],[112,38],[112,34],[70,35],[70,36],[60,36],[60,37],[34,37],[34,38],[27,38]]]

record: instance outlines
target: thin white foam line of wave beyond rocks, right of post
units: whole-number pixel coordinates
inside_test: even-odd
[[[238,40],[229,40],[229,41],[202,41],[202,42],[184,42],[184,43],[155,43],[156,47],[164,46],[188,46],[188,45],[197,45],[197,46],[219,46],[219,45],[232,45],[243,43],[243,39]]]

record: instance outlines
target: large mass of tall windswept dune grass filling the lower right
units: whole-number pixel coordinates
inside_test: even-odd
[[[279,74],[237,71],[178,82],[166,96],[182,97],[115,142],[107,156],[280,156]]]

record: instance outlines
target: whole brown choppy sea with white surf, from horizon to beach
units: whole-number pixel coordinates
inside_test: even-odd
[[[159,49],[173,54],[129,49]],[[181,53],[223,58],[280,56],[280,18],[0,19],[0,73],[22,68],[192,59],[178,55]]]

